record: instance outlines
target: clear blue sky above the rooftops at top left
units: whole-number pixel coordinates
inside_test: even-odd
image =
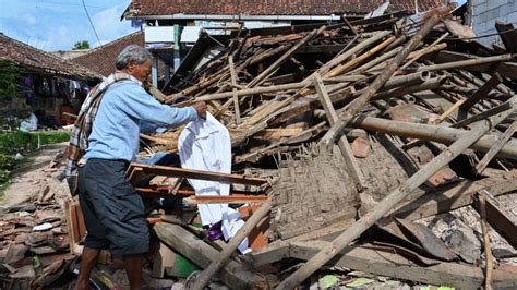
[[[100,43],[135,32],[120,15],[131,0],[84,0]],[[0,0],[0,32],[46,51],[71,50],[75,43],[99,45],[82,0]]]

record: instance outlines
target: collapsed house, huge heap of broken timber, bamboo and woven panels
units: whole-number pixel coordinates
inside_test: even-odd
[[[517,35],[506,29],[504,48],[486,47],[441,9],[202,35],[155,97],[206,101],[228,131],[231,172],[131,165],[136,191],[170,204],[148,218],[153,275],[193,289],[515,288]],[[142,156],[178,153],[183,129],[142,135]],[[206,195],[193,180],[231,188]],[[206,204],[245,221],[228,243],[200,229]],[[74,252],[84,226],[75,202],[65,212]],[[2,250],[12,264],[37,249],[20,219],[2,223],[19,241]],[[240,255],[245,239],[253,251]],[[70,265],[59,261],[40,270],[57,279]]]

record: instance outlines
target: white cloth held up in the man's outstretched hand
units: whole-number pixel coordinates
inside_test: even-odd
[[[221,173],[231,173],[231,140],[225,125],[209,112],[206,119],[190,122],[178,138],[181,167]],[[217,181],[189,179],[196,195],[229,195],[230,184]],[[228,204],[199,204],[203,226],[223,220],[223,235],[229,240],[244,226],[244,221]],[[248,239],[239,245],[242,253],[248,249]]]

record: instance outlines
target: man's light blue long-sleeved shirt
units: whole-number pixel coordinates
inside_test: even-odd
[[[135,82],[116,83],[100,101],[83,158],[134,161],[141,129],[149,128],[148,123],[156,128],[178,126],[196,119],[193,107],[171,108],[159,104]]]

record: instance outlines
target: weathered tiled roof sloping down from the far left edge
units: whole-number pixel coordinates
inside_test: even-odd
[[[29,45],[17,41],[0,33],[0,59],[20,63],[28,70],[50,74],[99,80],[101,75],[83,65],[64,60]]]

